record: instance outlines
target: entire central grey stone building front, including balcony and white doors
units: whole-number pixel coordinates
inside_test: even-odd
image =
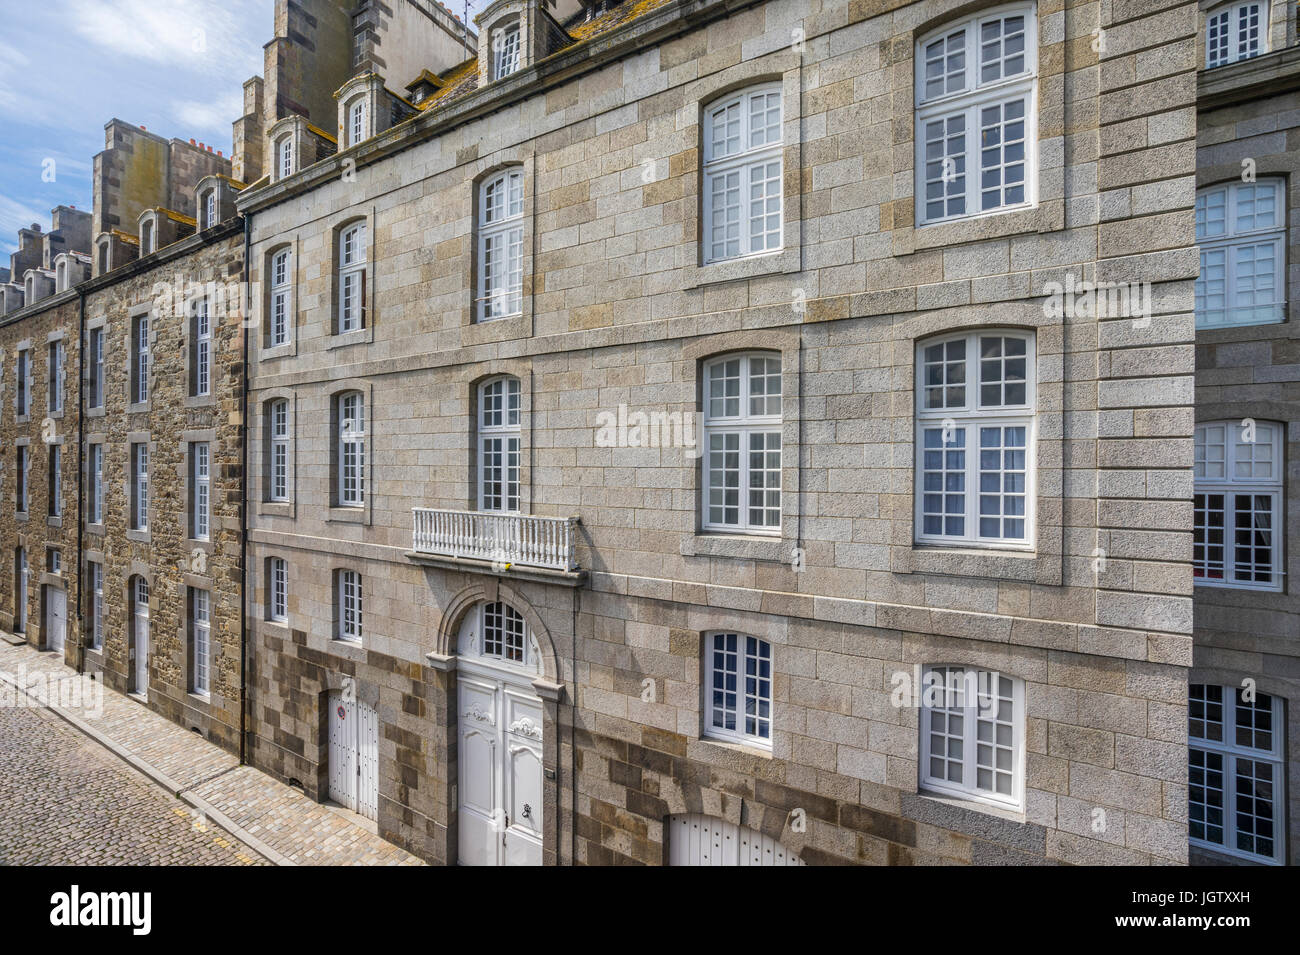
[[[292,334],[250,350],[254,761],[446,863],[1184,863],[1197,21],[1158,6],[610,4],[242,194],[254,285],[292,261]],[[1036,201],[919,226],[918,51],[994,14],[1028,23]],[[776,225],[733,257],[708,110],[751,94]],[[1148,307],[1050,307],[1083,282]],[[1032,355],[1032,543],[919,543],[918,355],[989,330]],[[780,448],[748,531],[689,440],[715,373]],[[751,733],[712,693],[737,654]],[[1009,798],[928,785],[940,715],[898,703],[931,668],[1008,678]]]

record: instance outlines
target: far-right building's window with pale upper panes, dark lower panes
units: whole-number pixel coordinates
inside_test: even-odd
[[[1199,585],[1282,589],[1282,443],[1277,421],[1196,426],[1192,574]]]

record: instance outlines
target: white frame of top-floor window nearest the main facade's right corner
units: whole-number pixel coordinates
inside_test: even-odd
[[[979,52],[982,48],[980,32],[985,23],[993,21],[1001,21],[1006,17],[1024,17],[1024,44],[1023,44],[1023,57],[1024,69],[1008,77],[998,77],[997,79],[982,81],[980,68],[982,62],[979,60]],[[965,65],[961,69],[962,86],[957,90],[944,92],[935,92],[927,96],[927,55],[926,48],[937,40],[946,40],[956,36],[957,34],[963,34],[963,51],[965,51]],[[982,10],[979,14],[972,17],[966,17],[952,23],[945,23],[939,30],[932,30],[926,34],[918,43],[915,51],[915,103],[916,103],[916,121],[914,129],[914,149],[915,149],[915,217],[918,225],[928,225],[933,222],[949,222],[956,220],[976,218],[980,216],[996,216],[1004,212],[1010,212],[1013,209],[1027,209],[1037,204],[1037,160],[1039,160],[1039,142],[1037,142],[1037,100],[1039,100],[1039,29],[1037,29],[1037,16],[1036,4],[1011,4],[1008,6],[998,6],[992,10]],[[946,56],[949,51],[945,51],[944,56],[940,58],[941,69],[946,68]],[[1013,53],[1015,56],[1015,53]],[[1005,58],[1005,55],[998,60]],[[1001,71],[1001,69],[998,70]],[[945,73],[944,77],[957,75],[957,70],[952,73]],[[946,87],[946,82],[945,82]],[[980,162],[982,146],[979,140],[982,139],[982,126],[980,116],[982,110],[993,105],[1005,105],[1014,101],[1023,101],[1024,114],[1020,122],[1024,126],[1023,130],[1023,143],[1024,143],[1024,177],[1023,185],[1023,199],[1020,201],[1004,201],[992,208],[984,209],[982,203],[982,181],[983,181],[983,166]],[[942,138],[948,138],[950,134],[946,131],[946,121],[956,117],[963,117],[963,148],[958,153],[952,153],[952,156],[963,157],[965,169],[958,172],[956,166],[952,169],[946,168],[942,159],[944,157],[930,157],[927,156],[927,123],[944,122],[945,131]],[[1015,122],[1014,120],[1011,122]],[[928,183],[933,179],[931,173],[935,172],[935,166],[931,164],[933,159],[939,159],[939,174],[940,182],[956,182],[957,175],[965,177],[965,190],[962,192],[952,192],[944,190],[944,210],[941,214],[931,214],[927,208],[928,200]],[[974,162],[972,162],[974,160]],[[1018,161],[1011,160],[1008,162],[1005,157],[998,164],[998,170],[1006,169],[1009,165],[1018,165]],[[953,178],[944,178],[952,174]],[[1001,178],[1001,177],[1000,177]],[[1005,186],[1005,183],[1004,183]],[[963,196],[963,209],[962,212],[948,212],[948,203],[950,197],[957,195]]]

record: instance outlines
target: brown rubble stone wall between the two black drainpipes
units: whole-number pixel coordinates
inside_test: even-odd
[[[91,292],[86,301],[87,325],[104,322],[107,330],[105,408],[87,412],[86,417],[87,442],[103,442],[105,447],[104,525],[87,528],[86,533],[87,560],[104,564],[105,638],[101,652],[87,652],[87,668],[103,672],[116,690],[133,689],[127,590],[129,581],[143,574],[150,582],[148,706],[183,726],[198,728],[231,752],[239,750],[240,704],[240,316],[212,311],[211,400],[188,396],[188,322],[161,304],[151,313],[147,408],[127,407],[127,376],[130,318],[139,307],[157,300],[157,285],[174,288],[177,278],[204,286],[239,283],[242,273],[243,234],[226,223],[187,239],[181,249],[164,249],[152,268],[133,266],[120,281]],[[235,287],[242,294],[242,286]],[[150,442],[147,535],[127,533],[130,435],[147,435]],[[188,539],[188,440],[209,442],[208,543]],[[196,552],[202,555],[198,559]],[[209,699],[190,693],[187,586],[212,592]]]

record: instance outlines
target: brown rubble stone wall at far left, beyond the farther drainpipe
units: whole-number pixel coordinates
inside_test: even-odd
[[[75,608],[79,599],[77,579],[77,427],[78,390],[77,363],[79,361],[77,330],[79,312],[75,296],[60,295],[48,299],[18,314],[6,316],[0,325],[0,350],[3,350],[3,379],[0,379],[0,626],[13,630],[16,616],[14,552],[18,547],[27,552],[27,643],[44,648],[44,592],[46,587],[58,587],[68,594],[68,635],[64,642],[64,659],[69,664],[77,660]],[[61,337],[64,343],[64,411],[49,414],[49,347],[52,337]],[[17,420],[14,414],[14,382],[17,352],[20,347],[29,350],[30,373],[30,414]],[[47,425],[48,420],[48,425]],[[48,517],[49,508],[49,456],[47,435],[62,446],[62,517]],[[31,456],[29,472],[29,509],[26,517],[16,513],[17,482],[14,463],[16,446],[20,440],[27,443]],[[58,547],[62,554],[62,573],[47,573],[47,548]]]

